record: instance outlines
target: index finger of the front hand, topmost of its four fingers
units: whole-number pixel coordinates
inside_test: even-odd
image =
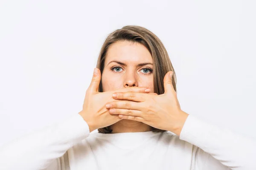
[[[113,94],[113,98],[119,99],[119,100],[130,100],[134,102],[145,102],[147,98],[152,97],[148,95],[157,95],[157,94],[156,93],[143,94],[143,93],[134,93],[134,92],[118,92]]]

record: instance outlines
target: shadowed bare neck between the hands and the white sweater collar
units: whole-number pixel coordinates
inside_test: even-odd
[[[119,122],[111,125],[112,133],[125,133],[125,132],[147,132],[151,131],[152,127],[134,120],[122,119]]]

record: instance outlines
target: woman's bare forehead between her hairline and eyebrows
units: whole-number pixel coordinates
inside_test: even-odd
[[[138,42],[118,41],[113,43],[106,55],[105,63],[118,60],[126,64],[153,62],[148,49]]]

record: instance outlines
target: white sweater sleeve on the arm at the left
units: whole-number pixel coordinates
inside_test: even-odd
[[[0,148],[1,170],[63,170],[64,154],[89,136],[80,114],[29,133]]]

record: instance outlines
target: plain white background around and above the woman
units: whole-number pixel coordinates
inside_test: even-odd
[[[256,5],[215,1],[0,1],[0,145],[81,111],[100,48],[153,31],[183,111],[256,138]]]

